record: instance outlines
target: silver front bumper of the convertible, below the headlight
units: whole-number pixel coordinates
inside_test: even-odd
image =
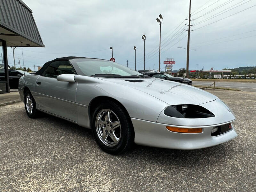
[[[237,134],[232,124],[232,129],[218,136],[211,136],[212,128],[230,122],[209,126],[177,126],[155,123],[131,118],[135,132],[134,142],[139,145],[170,149],[199,149],[219,145],[234,139]],[[167,130],[166,126],[182,128],[203,128],[202,133],[177,133]]]

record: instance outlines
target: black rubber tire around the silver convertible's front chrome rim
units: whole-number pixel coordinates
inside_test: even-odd
[[[99,128],[97,128],[97,126],[96,126],[96,118],[99,115],[100,111],[102,111],[103,109],[108,109],[108,110],[111,110],[112,112],[114,112],[113,114],[116,115],[116,117],[118,118],[117,121],[119,120],[120,125],[121,125],[119,127],[120,138],[118,140],[118,143],[115,146],[107,146],[106,143],[104,143],[102,141],[102,139],[100,138],[100,135],[98,135],[98,133],[97,133],[97,129],[99,129]],[[92,132],[93,132],[93,135],[94,135],[94,138],[95,138],[97,144],[105,152],[110,153],[110,154],[120,154],[120,153],[128,151],[129,149],[132,148],[132,146],[134,144],[134,129],[132,126],[131,118],[128,115],[128,113],[126,112],[126,110],[123,107],[116,104],[115,102],[113,102],[111,100],[106,100],[106,101],[102,102],[97,108],[95,108],[93,115],[92,115],[91,125],[92,125]],[[109,125],[109,126],[111,126],[111,125]],[[100,126],[100,129],[101,129],[101,126]],[[102,131],[102,133],[103,133],[103,131]],[[108,134],[111,134],[111,132],[109,131]],[[110,137],[110,135],[109,135],[109,137]],[[110,138],[110,140],[111,140],[111,138]]]

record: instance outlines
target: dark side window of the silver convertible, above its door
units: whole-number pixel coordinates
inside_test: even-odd
[[[56,78],[61,74],[75,74],[68,61],[53,61],[42,73],[42,76]]]

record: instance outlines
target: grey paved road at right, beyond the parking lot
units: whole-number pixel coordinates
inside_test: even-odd
[[[192,85],[211,85],[214,82],[212,81],[193,81]],[[216,87],[226,87],[232,89],[239,89],[242,91],[252,91],[256,92],[256,83],[243,83],[243,82],[216,82]]]

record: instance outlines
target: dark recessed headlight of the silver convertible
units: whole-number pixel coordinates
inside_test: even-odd
[[[215,115],[199,105],[172,105],[164,109],[164,114],[177,118],[207,118],[215,117]]]

